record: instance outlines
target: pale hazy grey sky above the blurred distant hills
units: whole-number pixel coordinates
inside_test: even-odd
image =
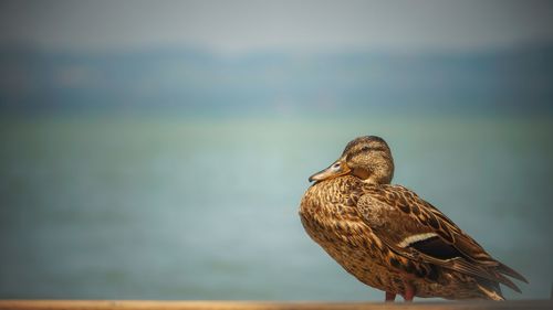
[[[553,1],[0,1],[0,44],[54,51],[474,51],[551,41]]]

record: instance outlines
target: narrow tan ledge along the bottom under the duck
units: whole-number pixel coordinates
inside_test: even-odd
[[[271,302],[271,301],[142,301],[142,300],[0,300],[10,310],[482,310],[553,309],[553,300],[470,301],[470,302]]]

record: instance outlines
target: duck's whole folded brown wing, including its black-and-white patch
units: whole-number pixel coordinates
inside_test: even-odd
[[[363,221],[396,254],[520,289],[504,275],[524,277],[493,259],[451,220],[404,186],[366,186],[357,202]],[[504,274],[504,275],[502,275]]]

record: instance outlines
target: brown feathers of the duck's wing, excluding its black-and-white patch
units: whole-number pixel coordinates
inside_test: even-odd
[[[500,274],[508,270],[497,268],[504,266],[503,264],[493,259],[451,220],[414,192],[397,185],[364,185],[363,192],[365,195],[357,203],[363,220],[397,254],[413,258],[404,249],[395,246],[398,244],[398,237],[436,233],[442,243],[451,245],[459,252],[459,257],[444,259],[432,257],[428,253],[421,253],[419,257],[424,258],[422,261],[426,260],[459,272],[498,281],[520,291],[511,280]],[[409,212],[405,212],[399,206],[401,203],[409,205]],[[505,275],[510,276],[508,272]]]

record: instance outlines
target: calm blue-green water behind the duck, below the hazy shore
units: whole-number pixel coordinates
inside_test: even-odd
[[[0,298],[382,300],[303,232],[307,177],[361,135],[395,183],[553,280],[549,117],[35,116],[0,121]]]

